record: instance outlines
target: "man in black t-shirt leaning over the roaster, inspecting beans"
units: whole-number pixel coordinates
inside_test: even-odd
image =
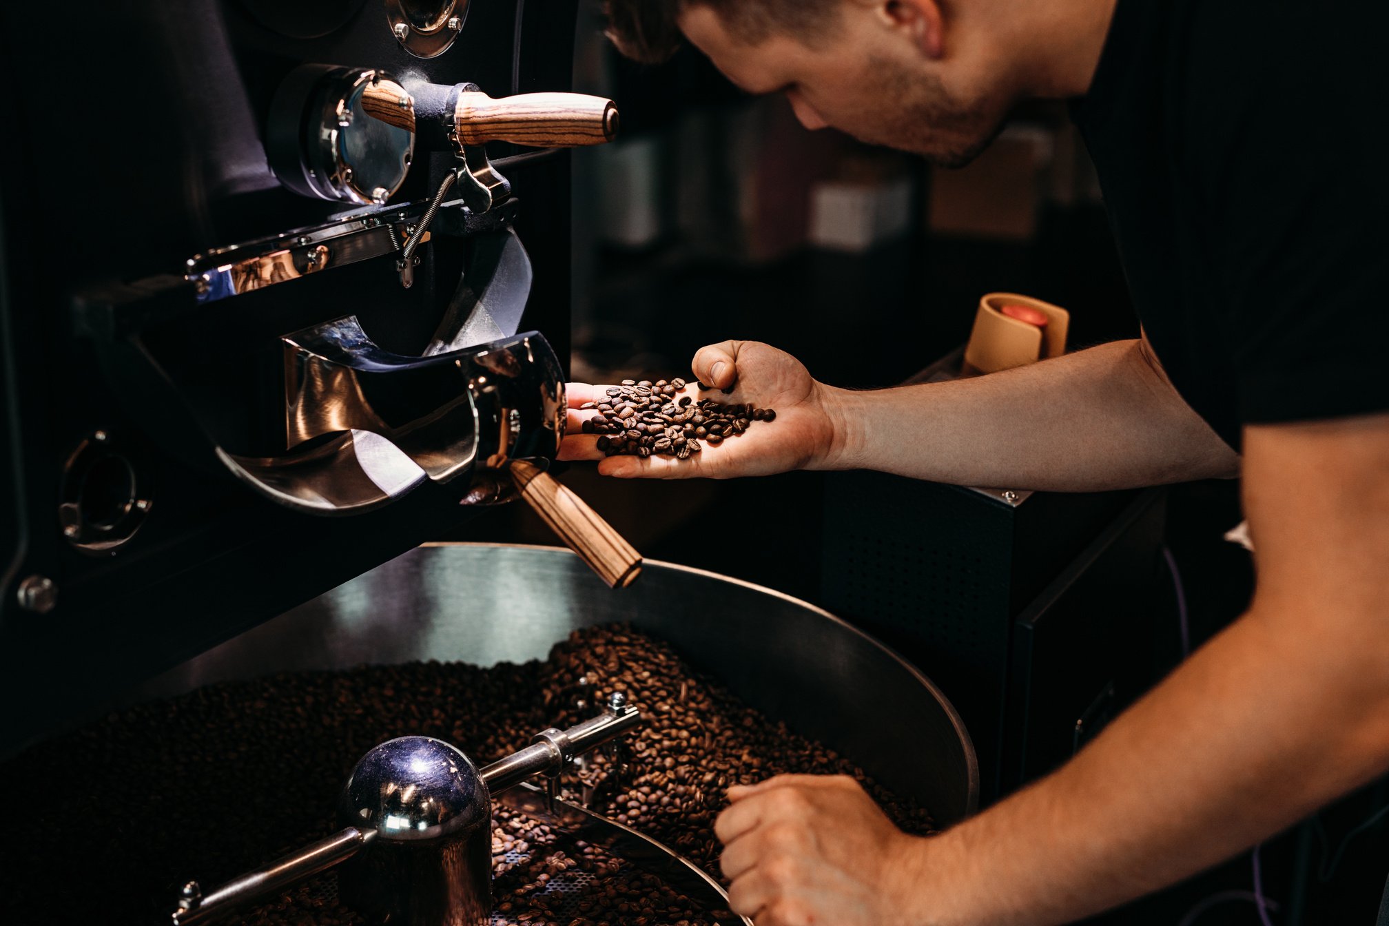
[[[725,342],[694,375],[776,421],[600,472],[872,468],[1063,491],[1240,476],[1257,548],[1239,621],[1068,765],[940,836],[900,833],[840,779],[732,789],[717,833],[736,911],[758,926],[1068,922],[1389,769],[1389,196],[1363,128],[1389,112],[1379,10],[610,0],[633,56],[683,35],[745,89],[786,93],[808,128],[942,164],[968,161],[1024,97],[1072,100],[1145,337],[870,393]],[[597,458],[593,440],[565,455]]]

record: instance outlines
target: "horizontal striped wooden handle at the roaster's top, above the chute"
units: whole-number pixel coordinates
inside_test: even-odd
[[[522,93],[493,100],[460,93],[454,132],[463,144],[513,142],[540,149],[603,144],[617,137],[613,100],[582,93]]]

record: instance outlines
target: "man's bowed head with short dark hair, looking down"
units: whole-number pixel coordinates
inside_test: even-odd
[[[782,92],[811,129],[972,160],[1021,92],[1004,49],[1018,0],[607,0],[610,35],[642,61],[688,39],[733,83]]]

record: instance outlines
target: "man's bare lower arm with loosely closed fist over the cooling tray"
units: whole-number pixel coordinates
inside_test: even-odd
[[[851,783],[732,793],[718,832],[740,912],[761,911],[760,926],[1064,923],[1389,771],[1389,415],[1249,428],[1245,447],[1258,566],[1245,616],[1070,764],[943,836],[885,829]]]

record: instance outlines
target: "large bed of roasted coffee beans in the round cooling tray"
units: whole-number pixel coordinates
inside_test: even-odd
[[[547,726],[593,716],[622,690],[649,722],[625,761],[597,755],[565,782],[596,809],[718,870],[713,822],[729,784],[782,772],[847,773],[908,832],[925,809],[875,786],[833,751],[761,716],[665,644],[624,626],[590,628],[543,662],[478,668],[406,664],[282,673],[207,686],[114,714],[0,765],[19,851],[0,865],[7,922],[168,922],[178,889],[207,890],[336,829],[357,759],[396,736],[435,736],[478,765]],[[597,847],[499,807],[494,923],[704,926],[707,911]],[[338,926],[329,873],[231,922]]]

